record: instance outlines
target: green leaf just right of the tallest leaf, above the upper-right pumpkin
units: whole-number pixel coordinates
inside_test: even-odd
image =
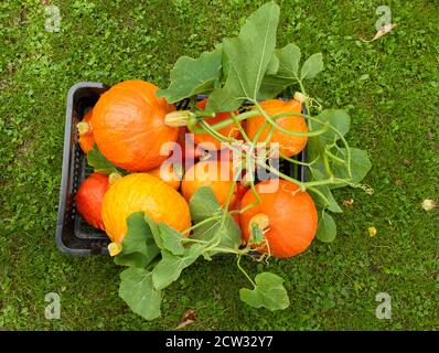
[[[299,46],[292,43],[276,51],[276,57],[279,60],[278,71],[275,74],[267,71],[259,90],[259,99],[274,98],[298,82],[300,55]]]

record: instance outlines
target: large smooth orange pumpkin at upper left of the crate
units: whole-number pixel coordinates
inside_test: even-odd
[[[147,171],[160,165],[165,142],[175,142],[178,128],[164,124],[173,105],[156,96],[157,86],[143,81],[126,81],[113,86],[97,101],[93,131],[100,152],[114,164],[129,171]]]

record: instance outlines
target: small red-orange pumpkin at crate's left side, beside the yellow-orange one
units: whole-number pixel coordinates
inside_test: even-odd
[[[76,193],[76,210],[83,218],[96,228],[105,229],[101,208],[109,188],[108,175],[93,173],[81,184]]]

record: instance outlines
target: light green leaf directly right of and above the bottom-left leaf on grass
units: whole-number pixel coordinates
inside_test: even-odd
[[[192,265],[201,255],[202,248],[194,244],[184,250],[184,256],[172,255],[162,250],[162,259],[152,270],[152,281],[156,289],[163,289],[176,280],[181,271]]]

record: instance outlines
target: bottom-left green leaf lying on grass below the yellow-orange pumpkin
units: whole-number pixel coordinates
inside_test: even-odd
[[[160,317],[162,291],[154,289],[152,272],[143,268],[128,268],[120,274],[119,297],[146,320]]]

